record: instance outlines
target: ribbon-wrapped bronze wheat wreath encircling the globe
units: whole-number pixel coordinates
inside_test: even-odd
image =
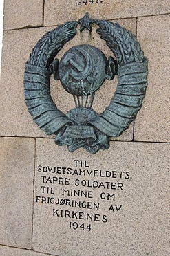
[[[50,95],[51,64],[64,44],[76,35],[78,22],[67,22],[43,35],[25,64],[24,91],[28,111],[40,129],[48,135],[55,134],[56,144],[67,145],[70,152],[78,147],[92,154],[98,149],[107,149],[109,136],[120,136],[136,118],[147,87],[147,58],[135,36],[116,23],[98,19],[94,23],[99,26],[96,32],[116,57],[118,84],[109,106],[88,122],[90,129],[94,129],[92,140],[73,140],[69,136],[60,140],[66,127],[74,126],[74,122],[57,109]]]

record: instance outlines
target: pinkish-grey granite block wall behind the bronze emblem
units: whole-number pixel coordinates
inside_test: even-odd
[[[54,136],[45,135],[32,121],[23,96],[25,61],[36,42],[85,12],[131,30],[149,60],[147,93],[135,122],[111,138],[109,149],[95,155],[56,146]],[[94,28],[78,33],[59,57],[76,44],[91,44],[111,55]],[[3,29],[0,255],[168,256],[169,0],[5,0]],[[116,82],[107,81],[98,90],[98,113],[115,89]],[[74,107],[72,95],[53,79],[51,94],[61,111]],[[49,171],[54,167],[59,175]],[[74,176],[61,172],[64,167],[72,174],[76,167],[98,172]],[[94,181],[103,186],[95,187]],[[89,194],[78,198],[71,190]],[[61,199],[85,201],[85,206],[64,205]]]

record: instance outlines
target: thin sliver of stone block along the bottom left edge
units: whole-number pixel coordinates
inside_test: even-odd
[[[23,250],[8,246],[0,246],[1,256],[50,256],[50,254],[37,253],[34,250]]]

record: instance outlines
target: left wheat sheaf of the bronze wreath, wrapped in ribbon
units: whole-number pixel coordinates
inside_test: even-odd
[[[72,122],[57,109],[50,96],[50,63],[64,44],[76,35],[77,22],[67,22],[41,37],[25,66],[24,93],[28,111],[46,134],[55,134]]]

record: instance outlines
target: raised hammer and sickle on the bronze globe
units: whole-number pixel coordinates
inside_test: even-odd
[[[76,51],[78,52],[78,56],[80,56],[81,54],[83,55],[83,58],[76,58],[77,56],[75,55],[75,53],[67,53],[67,55],[63,59],[63,64],[65,66],[71,64],[72,68],[69,67],[65,71],[65,75],[63,76],[63,82],[67,83],[70,76],[73,77],[75,80],[87,79],[89,82],[92,82],[92,80],[94,80],[94,77],[91,76],[93,69],[92,57],[83,48],[77,48]],[[80,59],[79,62],[78,59]]]

